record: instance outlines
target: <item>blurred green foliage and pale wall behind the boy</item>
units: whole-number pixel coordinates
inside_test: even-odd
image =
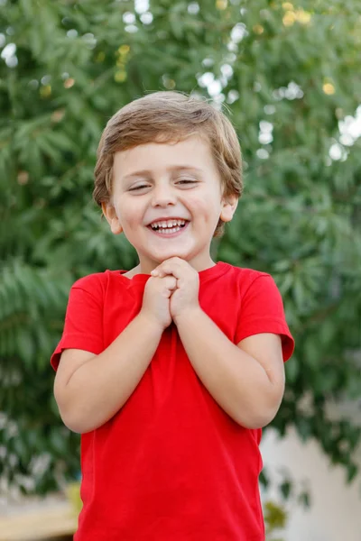
[[[242,146],[213,255],[273,275],[296,339],[264,430],[267,541],[360,541],[359,0],[0,0],[0,57],[0,540],[76,527],[50,355],[71,284],[136,264],[91,200],[97,143],[122,105],[176,89]]]

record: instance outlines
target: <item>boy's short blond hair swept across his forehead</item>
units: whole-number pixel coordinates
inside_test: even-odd
[[[224,197],[241,197],[241,149],[236,131],[223,113],[205,99],[180,92],[154,92],[125,105],[108,121],[97,148],[95,188],[97,205],[111,198],[113,161],[118,151],[148,142],[178,142],[205,138],[218,168]],[[219,220],[215,236],[223,234]]]

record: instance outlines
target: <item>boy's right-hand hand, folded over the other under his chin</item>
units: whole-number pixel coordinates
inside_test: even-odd
[[[171,293],[171,317],[177,325],[180,316],[189,314],[194,308],[199,309],[199,273],[187,261],[179,257],[163,261],[154,271],[153,276],[171,276],[176,279],[176,289]]]

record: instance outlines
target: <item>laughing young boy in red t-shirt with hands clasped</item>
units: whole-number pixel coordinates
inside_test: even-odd
[[[234,128],[191,96],[144,96],[106,125],[95,178],[139,264],[74,284],[51,357],[82,435],[74,539],[264,541],[258,445],[293,340],[270,275],[209,255],[242,192]]]

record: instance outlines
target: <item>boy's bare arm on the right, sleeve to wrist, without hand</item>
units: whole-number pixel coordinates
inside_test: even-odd
[[[177,327],[194,370],[219,406],[246,428],[268,425],[284,390],[280,336],[254,335],[237,346],[200,307],[180,316]]]

